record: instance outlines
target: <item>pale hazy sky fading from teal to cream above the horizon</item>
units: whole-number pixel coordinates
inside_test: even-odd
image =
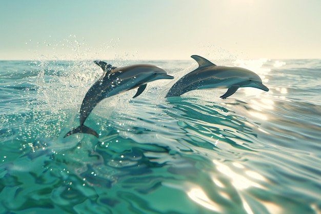
[[[321,59],[320,0],[1,0],[0,60]]]

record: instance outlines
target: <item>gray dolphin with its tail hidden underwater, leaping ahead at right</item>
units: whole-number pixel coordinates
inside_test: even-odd
[[[260,77],[245,68],[217,66],[202,56],[191,56],[198,68],[179,79],[168,91],[165,98],[180,96],[188,91],[196,89],[228,88],[227,92],[220,96],[225,99],[235,93],[240,87],[253,87],[269,91],[262,84]]]

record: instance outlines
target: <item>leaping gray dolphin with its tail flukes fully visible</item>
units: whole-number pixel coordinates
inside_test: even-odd
[[[116,68],[103,61],[94,61],[104,70],[104,74],[95,82],[85,95],[79,111],[80,126],[69,131],[64,138],[74,133],[93,134],[98,138],[95,130],[84,125],[92,109],[102,100],[138,87],[136,98],[141,94],[148,82],[160,79],[174,79],[160,67],[148,64],[137,64]]]

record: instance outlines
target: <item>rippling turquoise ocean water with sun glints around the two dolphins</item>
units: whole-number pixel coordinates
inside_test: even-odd
[[[139,61],[107,61],[124,66]],[[0,61],[0,213],[321,213],[321,61],[235,60],[270,89],[165,99],[189,61],[101,102],[92,61]]]

